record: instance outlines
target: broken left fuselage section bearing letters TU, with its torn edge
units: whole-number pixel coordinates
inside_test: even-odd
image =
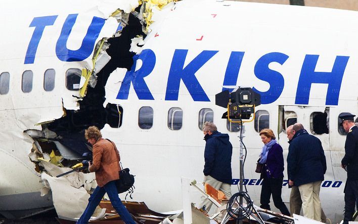
[[[2,96],[0,115],[7,119],[2,120],[4,128],[0,130],[5,167],[0,176],[9,181],[0,185],[0,213],[19,218],[55,206],[59,217],[75,218],[97,186],[95,175],[56,175],[71,170],[69,167],[84,159],[84,152],[92,151],[84,139],[87,127],[121,126],[123,108],[106,100],[105,85],[114,70],[125,72],[132,67],[132,39],[146,35],[148,15],[155,5],[135,0],[37,5],[44,12],[49,12],[47,8],[56,10],[49,16],[24,13],[27,16],[22,18],[21,26],[29,27],[28,38],[14,44],[24,48],[19,52],[26,52],[27,46],[24,57],[10,54],[8,59],[0,55],[2,70],[10,75],[23,73],[22,77],[11,76],[10,87],[22,83],[26,93],[21,99],[15,97],[15,92]],[[72,6],[71,12],[65,10],[68,5]],[[5,9],[18,10],[10,3]],[[78,14],[73,14],[76,11]],[[9,30],[8,26],[0,27]],[[53,41],[52,37],[58,35],[57,42]],[[37,73],[44,74],[43,89],[36,87]],[[24,80],[26,75],[31,80]]]

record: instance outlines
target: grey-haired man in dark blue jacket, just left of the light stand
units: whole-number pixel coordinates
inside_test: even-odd
[[[203,132],[206,141],[204,184],[209,184],[216,190],[222,191],[227,198],[231,198],[233,146],[229,142],[229,135],[218,132],[212,122],[205,122]],[[203,201],[203,208],[207,211],[210,210],[211,205],[208,199]]]

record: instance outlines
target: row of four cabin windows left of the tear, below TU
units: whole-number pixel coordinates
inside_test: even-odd
[[[43,73],[43,89],[44,91],[53,91],[55,88],[55,69],[47,69]],[[78,68],[70,68],[66,71],[66,88],[70,91],[79,89],[81,79],[81,70]],[[33,72],[26,70],[22,73],[21,90],[23,93],[32,91]],[[3,72],[0,74],[0,95],[8,94],[10,90],[10,73]]]

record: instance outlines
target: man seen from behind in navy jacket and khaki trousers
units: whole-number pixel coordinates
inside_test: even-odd
[[[294,136],[287,156],[290,186],[298,186],[305,217],[321,221],[320,189],[326,173],[326,157],[321,141],[308,135],[303,125],[292,126]]]

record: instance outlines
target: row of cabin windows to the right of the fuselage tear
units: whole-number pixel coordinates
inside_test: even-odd
[[[139,110],[138,116],[138,125],[142,129],[150,129],[153,126],[153,108],[151,107],[141,107]],[[203,108],[199,111],[198,117],[198,127],[200,130],[203,130],[204,123],[206,121],[213,121],[214,112],[212,109]],[[322,112],[314,112],[311,114],[311,124],[310,131],[314,135],[322,135],[324,133],[329,133],[329,127],[327,126],[327,113]],[[235,120],[234,121],[238,121]],[[290,118],[284,119],[282,122],[282,128],[286,129],[286,127],[297,122],[297,116],[294,114],[291,115]],[[340,119],[338,118],[338,124],[340,123]],[[170,130],[179,130],[182,128],[183,124],[183,110],[178,107],[170,108],[168,111],[168,128]],[[237,132],[240,130],[240,123],[234,123],[227,120],[227,129],[231,132]],[[270,128],[270,114],[266,110],[258,110],[255,112],[254,119],[254,128],[256,132],[260,132],[264,128]],[[338,132],[340,135],[346,135],[343,127],[338,125]]]

